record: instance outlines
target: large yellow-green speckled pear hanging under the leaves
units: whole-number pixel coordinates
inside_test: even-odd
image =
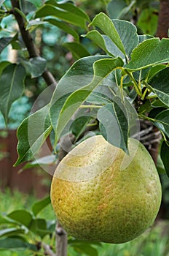
[[[141,235],[157,217],[162,191],[146,148],[129,139],[129,154],[102,135],[79,143],[58,165],[51,200],[71,236],[120,244]]]

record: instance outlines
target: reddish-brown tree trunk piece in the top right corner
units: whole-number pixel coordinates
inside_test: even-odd
[[[168,29],[169,29],[169,1],[161,0],[156,36],[160,38],[168,37]]]

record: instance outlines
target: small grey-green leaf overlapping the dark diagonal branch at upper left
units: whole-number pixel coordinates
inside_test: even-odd
[[[23,61],[23,65],[31,74],[31,78],[38,78],[47,67],[47,61],[41,57],[34,57],[29,61]]]

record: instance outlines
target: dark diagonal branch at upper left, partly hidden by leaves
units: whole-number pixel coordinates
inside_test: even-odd
[[[19,29],[20,29],[20,34],[23,38],[23,42],[25,43],[25,47],[28,50],[29,56],[30,58],[34,58],[34,57],[38,57],[39,53],[36,50],[36,47],[34,45],[34,40],[31,37],[31,34],[29,33],[28,30],[25,29],[25,20],[24,18],[20,15],[19,12],[15,11],[15,8],[17,8],[17,10],[20,10],[20,4],[19,1],[17,0],[11,0],[11,4],[12,4],[12,13],[15,16],[15,19],[17,20]],[[53,77],[53,75],[51,74],[51,72],[49,70],[45,70],[44,73],[42,74],[42,77],[44,78],[45,82],[47,83],[47,86],[51,86],[52,84],[56,84],[56,80]]]

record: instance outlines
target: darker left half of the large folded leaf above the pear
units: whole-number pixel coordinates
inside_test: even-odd
[[[50,102],[50,118],[56,130],[60,110],[68,96],[93,80],[93,63],[108,56],[89,56],[76,61],[60,79]]]

